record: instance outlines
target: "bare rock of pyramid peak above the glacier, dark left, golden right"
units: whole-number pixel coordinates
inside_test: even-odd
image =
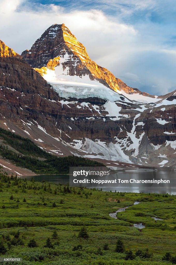
[[[120,90],[115,76],[89,58],[85,47],[64,24],[49,27],[21,56],[42,76],[47,68],[54,70],[62,59],[62,67],[67,67],[70,76],[89,75],[90,80],[97,80],[115,91]]]

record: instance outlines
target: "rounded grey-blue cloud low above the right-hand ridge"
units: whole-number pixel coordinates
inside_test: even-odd
[[[137,87],[149,94],[164,95],[175,90],[175,55],[158,51],[135,52],[126,61],[125,69],[133,70],[133,74],[124,74],[119,71],[119,76],[127,84]],[[137,77],[134,73],[138,73]]]

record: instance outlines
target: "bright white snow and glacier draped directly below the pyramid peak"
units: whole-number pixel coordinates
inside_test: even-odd
[[[72,61],[73,66],[76,65],[73,55],[66,53],[59,57],[59,64],[54,68],[41,69],[43,78],[52,85],[61,97],[98,97],[113,102],[121,100],[120,96],[125,96],[125,102],[137,101],[140,103],[155,103],[161,100],[157,96],[151,98],[139,93],[127,94],[122,90],[115,92],[107,86],[104,86],[98,80],[91,80],[88,74],[78,76],[75,73],[74,75],[70,75],[69,67],[65,67],[65,64],[67,65],[69,60]]]

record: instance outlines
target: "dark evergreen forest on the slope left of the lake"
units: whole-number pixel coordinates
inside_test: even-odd
[[[103,164],[78,156],[57,157],[39,148],[30,139],[21,137],[0,128],[0,137],[4,144],[0,144],[2,157],[13,161],[16,166],[27,168],[37,174],[68,174],[69,167],[74,166],[104,166]],[[10,145],[22,155],[8,149]],[[45,158],[39,160],[38,157]]]

